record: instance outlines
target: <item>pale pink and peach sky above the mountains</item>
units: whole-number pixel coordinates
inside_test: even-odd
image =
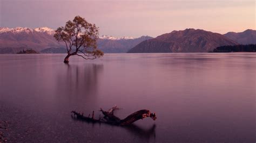
[[[255,30],[256,0],[0,0],[0,27],[64,26],[75,16],[100,35],[157,37],[173,30]]]

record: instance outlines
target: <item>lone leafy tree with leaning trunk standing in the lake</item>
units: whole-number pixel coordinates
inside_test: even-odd
[[[73,21],[66,22],[65,27],[58,27],[54,37],[57,41],[64,41],[68,55],[64,62],[69,62],[69,57],[78,55],[86,60],[93,60],[103,56],[103,52],[97,49],[99,28],[90,24],[80,16]]]

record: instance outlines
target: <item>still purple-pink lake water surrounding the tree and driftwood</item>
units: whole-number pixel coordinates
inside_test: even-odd
[[[22,142],[255,142],[256,54],[0,55],[0,120]],[[119,127],[71,118],[117,105],[157,120]]]

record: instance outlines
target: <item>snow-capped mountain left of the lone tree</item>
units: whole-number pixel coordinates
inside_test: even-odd
[[[17,49],[34,49],[39,52],[48,47],[63,47],[64,44],[58,42],[53,37],[54,30],[47,27],[27,28],[0,27],[0,53],[2,48],[9,48],[10,51]]]

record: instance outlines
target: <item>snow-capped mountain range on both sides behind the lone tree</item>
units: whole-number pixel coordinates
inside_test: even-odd
[[[0,27],[0,53],[17,53],[21,50],[34,49],[41,53],[63,53],[65,45],[53,37],[55,30],[48,27]],[[139,38],[102,35],[97,41],[98,48],[104,53],[126,53],[149,36]]]

